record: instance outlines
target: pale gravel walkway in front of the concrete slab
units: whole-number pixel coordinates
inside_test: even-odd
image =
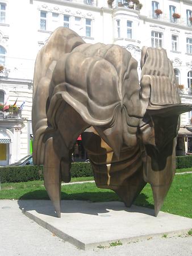
[[[79,250],[24,216],[16,200],[0,200],[0,216],[0,255],[2,256],[192,255],[192,236],[152,237],[148,240],[125,243],[123,246]]]

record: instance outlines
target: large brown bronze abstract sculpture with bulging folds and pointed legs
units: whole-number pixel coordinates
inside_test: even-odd
[[[157,216],[175,172],[181,104],[172,63],[162,48],[144,47],[137,62],[114,44],[86,44],[57,28],[35,64],[33,159],[60,217],[61,181],[70,181],[74,143],[82,134],[99,188],[130,207],[151,184]]]

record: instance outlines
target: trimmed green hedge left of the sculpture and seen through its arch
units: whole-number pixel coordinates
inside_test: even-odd
[[[93,176],[90,163],[72,163],[70,169],[72,177]],[[43,166],[11,166],[0,168],[1,182],[26,182],[43,180]]]

